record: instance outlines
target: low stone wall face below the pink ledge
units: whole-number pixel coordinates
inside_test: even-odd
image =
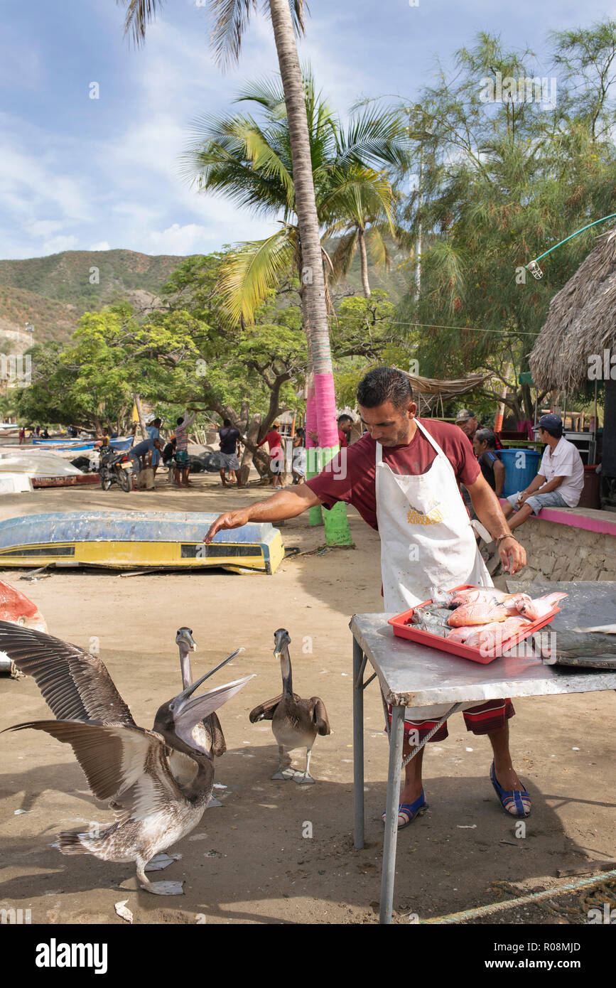
[[[616,580],[616,536],[541,518],[529,519],[514,532],[526,549],[528,563],[519,580]]]

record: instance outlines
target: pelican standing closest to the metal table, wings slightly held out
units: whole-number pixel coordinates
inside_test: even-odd
[[[282,693],[273,700],[266,700],[260,706],[251,710],[249,717],[252,724],[258,720],[270,720],[273,736],[278,743],[278,771],[272,779],[293,779],[301,784],[311,784],[314,779],[310,775],[310,755],[317,734],[331,734],[325,703],[319,697],[302,700],[293,693],[291,660],[288,646],[291,643],[288,631],[279,627],[273,632],[273,654],[280,660],[282,673]],[[296,772],[295,769],[282,768],[284,749],[305,748],[306,769]]]

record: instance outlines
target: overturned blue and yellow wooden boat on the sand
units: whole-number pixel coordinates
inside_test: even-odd
[[[216,514],[182,511],[69,511],[0,522],[0,567],[103,566],[201,569],[272,574],[284,557],[269,523],[203,536]]]

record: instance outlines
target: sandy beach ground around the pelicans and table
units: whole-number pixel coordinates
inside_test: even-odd
[[[5,496],[0,516],[130,506],[219,512],[263,496],[263,488],[222,490],[198,477],[180,492],[159,481],[153,492],[117,488],[47,490]],[[0,777],[0,906],[30,908],[33,923],[116,923],[127,899],[135,923],[375,923],[382,855],[387,741],[376,685],[365,699],[366,846],[352,849],[351,639],[349,616],[380,611],[379,540],[353,512],[354,550],[287,558],[272,577],[223,571],[121,578],[113,572],[53,573],[19,582],[39,605],[52,634],[101,655],[137,723],[150,726],[157,707],[181,685],[175,634],[192,627],[201,675],[230,651],[246,651],[216,683],[256,673],[220,712],[228,752],[216,762],[219,808],[174,851],[180,861],[160,878],[185,878],[185,895],[159,898],[137,888],[131,865],[88,856],[65,858],[51,847],[61,829],[112,819],[95,802],[72,751],[35,732],[5,734]],[[286,545],[324,541],[306,518],[285,523]],[[275,628],[290,632],[294,689],[325,700],[334,734],[318,738],[317,783],[273,782],[277,750],[268,723],[251,725],[249,710],[280,690],[272,655]],[[47,717],[31,679],[3,677],[0,728]],[[511,748],[533,798],[526,836],[500,809],[489,781],[490,746],[467,733],[461,714],[446,742],[424,761],[429,811],[399,836],[395,923],[555,890],[571,878],[557,869],[607,863],[615,855],[613,693],[516,700]],[[294,764],[302,765],[302,754]],[[26,810],[26,812],[17,812]],[[86,829],[86,828],[84,828]],[[310,835],[310,836],[307,836]],[[607,864],[605,865],[608,866]],[[585,898],[579,892],[543,906],[515,907],[482,922],[584,923],[593,904],[614,902],[616,886]],[[610,898],[611,896],[611,898]]]

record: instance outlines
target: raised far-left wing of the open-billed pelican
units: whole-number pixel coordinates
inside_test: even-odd
[[[135,726],[105,664],[90,652],[42,631],[0,621],[0,651],[32,676],[58,720]]]

